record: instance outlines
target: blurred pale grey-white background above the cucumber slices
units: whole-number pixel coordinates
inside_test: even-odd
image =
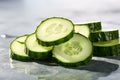
[[[101,21],[119,28],[119,0],[0,0],[0,34],[34,32],[41,20],[59,16],[74,23]]]

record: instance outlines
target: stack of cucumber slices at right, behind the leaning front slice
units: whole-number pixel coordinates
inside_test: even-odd
[[[93,56],[118,56],[120,54],[118,29],[102,29],[101,22],[90,22],[75,24],[75,32],[90,39],[93,43]]]

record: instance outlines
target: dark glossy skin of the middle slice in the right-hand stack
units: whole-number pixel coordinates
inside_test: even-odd
[[[118,30],[105,31],[105,32],[98,31],[90,34],[90,40],[92,42],[109,41],[109,40],[114,40],[118,38],[119,38]]]

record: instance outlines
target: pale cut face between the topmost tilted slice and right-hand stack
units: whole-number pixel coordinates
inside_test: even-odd
[[[88,25],[75,24],[74,28],[75,28],[75,33],[80,33],[80,34],[86,36],[87,38],[89,38],[90,28],[88,27]]]

